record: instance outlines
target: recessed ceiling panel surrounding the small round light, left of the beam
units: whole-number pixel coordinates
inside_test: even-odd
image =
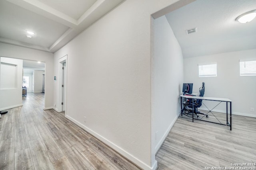
[[[0,37],[42,47],[50,47],[69,28],[4,0],[0,1],[0,16],[0,23],[4,23],[0,25]],[[36,34],[27,38],[26,30]]]

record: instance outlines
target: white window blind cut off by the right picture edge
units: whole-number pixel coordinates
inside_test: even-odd
[[[240,76],[256,76],[256,61],[240,61]]]

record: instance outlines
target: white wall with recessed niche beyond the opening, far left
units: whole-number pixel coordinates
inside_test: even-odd
[[[0,57],[0,62],[0,111],[22,106],[23,61]]]

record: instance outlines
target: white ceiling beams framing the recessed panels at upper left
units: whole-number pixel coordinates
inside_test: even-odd
[[[25,8],[26,10],[30,10],[36,14],[54,20],[58,23],[66,25],[70,27],[60,38],[58,38],[49,48],[41,47],[33,47],[34,49],[39,49],[43,51],[50,51],[52,53],[56,52],[58,49],[66,45],[69,41],[71,41],[74,37],[76,37],[79,33],[84,31],[94,22],[108,14],[113,8],[124,2],[125,0],[97,0],[84,14],[78,19],[75,20],[66,14],[47,6],[46,4],[38,1],[38,0],[6,0]],[[2,39],[2,38],[1,38]],[[1,42],[0,39],[0,42]],[[22,47],[29,47],[29,45],[23,45],[21,42],[14,42],[8,39],[2,39],[5,43],[19,45]]]

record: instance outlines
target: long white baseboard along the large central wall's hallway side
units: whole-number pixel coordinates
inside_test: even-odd
[[[132,161],[134,164],[136,164],[140,168],[142,168],[144,170],[155,170],[156,169],[157,162],[154,162],[154,166],[150,167],[147,164],[145,164],[144,162],[142,162],[141,160],[139,160],[138,158],[136,158],[135,156],[133,156],[132,154],[126,152],[126,150],[118,147],[117,145],[115,145],[111,141],[108,141],[108,139],[102,137],[101,135],[99,135],[98,133],[96,133],[93,130],[89,129],[88,127],[86,127],[82,123],[76,121],[72,117],[70,117],[68,115],[65,115],[65,117],[67,119],[69,119],[70,121],[72,121],[73,123],[75,123],[76,125],[78,125],[79,127],[81,127],[82,129],[86,130],[88,133],[90,133],[91,135],[93,135],[94,137],[96,137],[97,139],[99,139],[100,141],[102,141],[103,143],[108,145],[109,147],[111,147],[112,149],[116,150],[116,152],[120,153],[122,156],[126,157],[127,159]]]

